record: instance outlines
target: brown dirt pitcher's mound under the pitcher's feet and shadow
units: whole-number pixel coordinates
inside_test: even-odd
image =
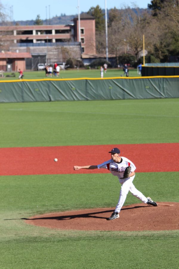
[[[108,221],[114,208],[48,213],[26,219],[28,224],[61,230],[142,231],[178,230],[179,203],[124,206],[120,218]]]

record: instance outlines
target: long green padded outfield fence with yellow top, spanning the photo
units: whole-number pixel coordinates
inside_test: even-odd
[[[178,97],[179,76],[0,81],[0,103]]]

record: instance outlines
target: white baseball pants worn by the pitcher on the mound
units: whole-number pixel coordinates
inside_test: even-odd
[[[128,192],[130,191],[132,195],[137,197],[139,200],[141,200],[143,203],[147,203],[148,199],[142,194],[142,192],[138,191],[132,181],[134,180],[135,175],[129,178],[119,178],[119,182],[122,184],[121,190],[120,190],[120,196],[119,196],[119,201],[118,204],[115,208],[116,212],[120,212]]]

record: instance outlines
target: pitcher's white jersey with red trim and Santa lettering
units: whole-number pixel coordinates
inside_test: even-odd
[[[134,172],[136,169],[134,163],[125,157],[121,157],[120,163],[115,163],[112,159],[110,159],[104,163],[98,164],[97,167],[98,169],[108,169],[112,175],[117,176],[118,178],[124,178],[124,171],[127,166],[131,167],[131,172]]]

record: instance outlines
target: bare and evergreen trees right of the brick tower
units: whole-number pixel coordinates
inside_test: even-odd
[[[105,17],[97,5],[87,12],[95,17],[96,50],[106,51]],[[179,55],[179,1],[153,0],[148,9],[125,7],[108,12],[108,51],[116,56],[135,56],[139,62],[145,38],[148,62],[168,62],[169,56]]]

